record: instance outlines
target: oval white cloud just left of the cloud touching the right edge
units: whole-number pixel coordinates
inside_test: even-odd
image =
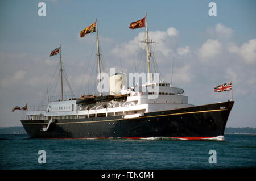
[[[198,56],[201,61],[208,61],[220,54],[222,44],[218,40],[207,39],[205,43],[198,50]]]

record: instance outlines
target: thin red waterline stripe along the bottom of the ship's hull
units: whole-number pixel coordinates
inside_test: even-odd
[[[70,139],[70,140],[96,140],[96,139],[113,139],[114,137],[95,137],[95,138],[42,138],[42,139]],[[133,140],[139,140],[139,139],[145,139],[150,137],[120,137],[122,139],[133,139]],[[206,138],[214,138],[214,137],[167,137],[172,139],[183,139],[183,140],[201,140]]]

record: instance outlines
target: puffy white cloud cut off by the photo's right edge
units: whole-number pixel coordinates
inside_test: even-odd
[[[256,63],[256,39],[243,43],[241,47],[233,44],[229,47],[229,51],[240,55],[248,64]]]

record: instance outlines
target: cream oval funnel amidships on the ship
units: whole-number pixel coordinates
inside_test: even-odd
[[[121,95],[121,90],[127,89],[127,76],[125,73],[118,72],[109,78],[109,94]]]

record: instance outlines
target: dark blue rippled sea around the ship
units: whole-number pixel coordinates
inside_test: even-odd
[[[38,159],[45,151],[46,163]],[[213,156],[216,163],[209,163]],[[42,157],[40,157],[42,158]],[[212,159],[211,159],[212,160]],[[210,140],[59,140],[0,134],[0,169],[240,169],[256,168],[256,135]]]

